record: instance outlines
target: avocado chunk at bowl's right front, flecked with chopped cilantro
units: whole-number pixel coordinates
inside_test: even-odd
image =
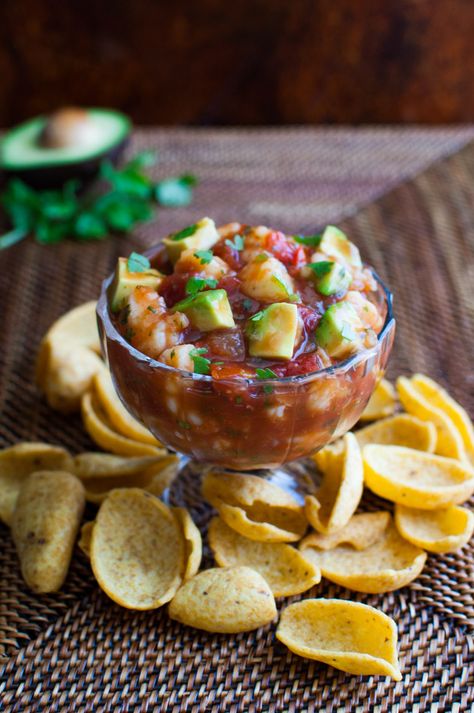
[[[336,302],[327,308],[316,328],[316,343],[331,357],[348,357],[360,349],[361,327],[352,305]]]

